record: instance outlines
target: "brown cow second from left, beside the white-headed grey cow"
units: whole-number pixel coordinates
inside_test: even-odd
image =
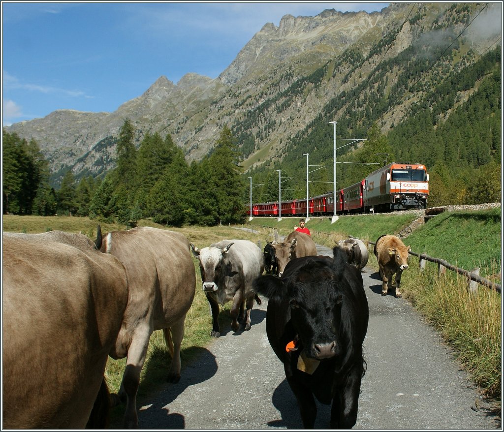
[[[97,241],[100,236],[98,232]],[[172,354],[168,382],[180,379],[180,344],[196,292],[196,271],[189,242],[177,232],[145,226],[112,231],[97,246],[116,256],[128,275],[130,297],[114,358],[127,356],[118,399],[127,403],[124,427],[137,427],[140,372],[154,330],[163,330]]]

